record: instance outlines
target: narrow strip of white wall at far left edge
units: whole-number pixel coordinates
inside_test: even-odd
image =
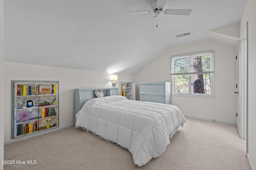
[[[4,89],[4,0],[0,0],[0,89]],[[0,160],[4,160],[4,90],[0,90],[0,117]]]

